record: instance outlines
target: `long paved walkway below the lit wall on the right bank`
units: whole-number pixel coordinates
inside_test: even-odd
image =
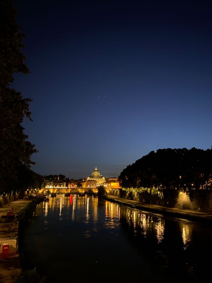
[[[126,205],[147,212],[162,214],[168,217],[186,219],[195,222],[204,222],[207,224],[212,224],[212,214],[210,213],[187,210],[187,209],[179,209],[173,207],[165,207],[161,205],[146,204],[136,200],[129,200],[112,195],[106,195],[105,198],[109,201],[114,201],[121,205]]]

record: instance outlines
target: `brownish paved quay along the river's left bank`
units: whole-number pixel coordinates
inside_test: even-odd
[[[18,220],[16,217],[5,221],[7,211],[13,207],[15,216],[19,214],[20,210],[26,207],[32,200],[20,199],[12,201],[0,207],[0,239],[15,239],[17,254],[13,257],[5,258],[0,261],[0,282],[14,283],[17,275],[21,273],[20,258],[18,254]]]

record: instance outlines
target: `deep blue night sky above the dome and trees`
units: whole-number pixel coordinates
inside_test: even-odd
[[[150,4],[151,3],[151,4]],[[118,177],[163,148],[211,148],[210,1],[15,0],[40,175]]]

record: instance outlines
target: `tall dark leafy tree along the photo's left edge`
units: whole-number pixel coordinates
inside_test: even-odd
[[[12,0],[0,3],[0,195],[11,193],[17,181],[18,167],[24,164],[30,168],[31,155],[37,150],[24,134],[22,122],[24,117],[31,121],[29,111],[30,98],[9,87],[13,82],[13,74],[29,73],[24,63],[26,56],[21,48],[24,47],[24,34],[19,32],[20,25],[15,20],[16,9]]]

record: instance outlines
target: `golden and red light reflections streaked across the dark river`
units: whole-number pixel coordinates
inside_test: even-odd
[[[72,221],[83,221],[85,224],[98,222],[98,198],[92,196],[78,197],[71,195],[70,198],[60,196],[59,198],[50,198],[50,202],[42,203],[44,216],[48,216],[48,209],[54,212],[54,207],[59,205],[59,220],[63,221],[63,215],[69,213]],[[155,238],[158,244],[164,240],[165,220],[161,216],[151,215],[136,209],[130,209],[120,206],[113,202],[105,202],[104,227],[107,229],[117,228],[120,223],[126,222],[133,236],[139,235],[144,238]],[[80,214],[79,214],[80,211]],[[118,220],[118,221],[117,221]],[[183,249],[185,250],[192,234],[192,225],[190,223],[179,222]],[[96,229],[96,228],[95,228]],[[89,231],[85,231],[86,237]]]

